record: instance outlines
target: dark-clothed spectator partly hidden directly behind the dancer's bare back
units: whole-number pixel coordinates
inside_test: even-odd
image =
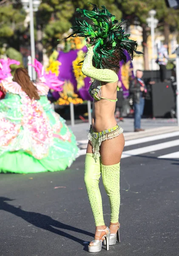
[[[122,117],[123,90],[121,81],[118,81],[117,85],[119,87],[119,91],[117,91],[115,118],[117,121],[124,122]]]

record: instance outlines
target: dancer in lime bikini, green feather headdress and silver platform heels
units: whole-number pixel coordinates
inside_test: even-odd
[[[119,242],[119,206],[120,159],[125,140],[123,129],[116,123],[114,117],[119,71],[119,61],[126,61],[124,49],[133,57],[137,44],[124,34],[122,25],[126,21],[116,20],[116,17],[102,6],[88,11],[77,9],[85,19],[76,19],[72,37],[81,36],[87,40],[88,52],[82,65],[82,73],[93,79],[89,93],[94,98],[93,118],[88,133],[88,147],[85,157],[85,185],[88,192],[91,209],[94,214],[96,232],[94,240],[88,245],[89,252],[99,252],[102,241],[109,245]],[[102,213],[102,199],[99,191],[99,177],[108,194],[111,207],[111,222],[105,226]]]

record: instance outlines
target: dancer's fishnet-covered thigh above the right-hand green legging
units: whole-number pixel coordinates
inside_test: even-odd
[[[119,163],[124,145],[125,140],[123,134],[111,140],[102,141],[100,146],[101,163],[105,166]]]

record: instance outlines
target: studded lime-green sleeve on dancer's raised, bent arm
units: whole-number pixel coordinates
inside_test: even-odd
[[[98,69],[93,67],[92,58],[93,58],[93,48],[89,47],[86,54],[85,60],[82,65],[82,73],[85,76],[91,77],[92,79],[103,81],[107,83],[114,83],[118,81],[117,74],[110,69]]]

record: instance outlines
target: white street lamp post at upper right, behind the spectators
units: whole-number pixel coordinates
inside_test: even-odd
[[[159,22],[157,19],[154,18],[156,15],[155,10],[151,10],[149,13],[149,18],[147,18],[148,26],[151,28],[151,42],[152,42],[152,62],[151,62],[151,69],[154,69],[154,58],[155,58],[155,28],[157,26],[157,23]]]

